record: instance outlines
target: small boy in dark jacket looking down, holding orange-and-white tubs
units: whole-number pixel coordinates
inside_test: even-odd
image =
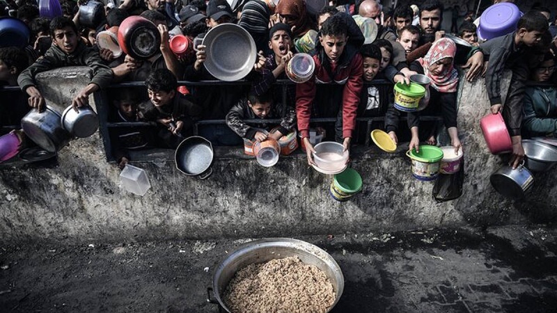
[[[278,103],[277,103],[278,104]],[[258,131],[256,128],[244,122],[245,119],[268,119],[268,118],[281,118],[281,126],[278,131],[269,134],[270,138],[277,140],[282,136],[287,135],[296,124],[296,111],[290,106],[281,104],[273,105],[273,98],[271,93],[264,93],[256,95],[256,93],[249,93],[247,99],[240,99],[240,101],[233,106],[226,115],[226,125],[230,127],[238,136],[253,141],[265,141],[267,134]],[[260,129],[267,129],[267,124],[256,124],[255,127]]]

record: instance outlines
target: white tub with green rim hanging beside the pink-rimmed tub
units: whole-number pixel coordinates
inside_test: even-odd
[[[437,179],[443,150],[434,145],[421,145],[419,150],[420,152],[416,152],[416,149],[406,152],[412,160],[412,176],[425,182]]]

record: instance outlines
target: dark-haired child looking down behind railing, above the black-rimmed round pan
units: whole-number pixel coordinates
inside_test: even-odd
[[[158,135],[166,147],[178,147],[191,134],[201,108],[176,93],[178,81],[170,70],[155,70],[145,81],[149,100],[139,106],[139,118],[157,122]]]

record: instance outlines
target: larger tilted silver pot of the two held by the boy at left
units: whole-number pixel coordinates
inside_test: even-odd
[[[42,112],[32,109],[22,118],[22,129],[42,149],[57,152],[72,139],[72,135],[63,129],[61,120],[60,113],[50,106]]]

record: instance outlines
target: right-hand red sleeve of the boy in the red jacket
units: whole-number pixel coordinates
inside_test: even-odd
[[[343,88],[343,138],[352,138],[352,133],[356,129],[356,112],[358,111],[363,86],[363,59],[361,55],[356,54],[350,65],[348,81]]]

